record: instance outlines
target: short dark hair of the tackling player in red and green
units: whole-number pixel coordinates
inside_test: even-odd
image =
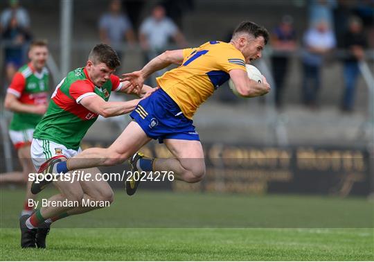
[[[116,69],[121,65],[116,51],[107,44],[96,44],[89,52],[89,60],[96,63],[104,63],[110,69]]]

